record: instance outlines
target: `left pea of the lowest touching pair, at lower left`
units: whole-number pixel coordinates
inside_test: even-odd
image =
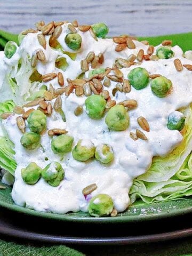
[[[36,163],[30,163],[26,168],[21,169],[21,177],[27,184],[34,185],[41,177],[42,169]]]

